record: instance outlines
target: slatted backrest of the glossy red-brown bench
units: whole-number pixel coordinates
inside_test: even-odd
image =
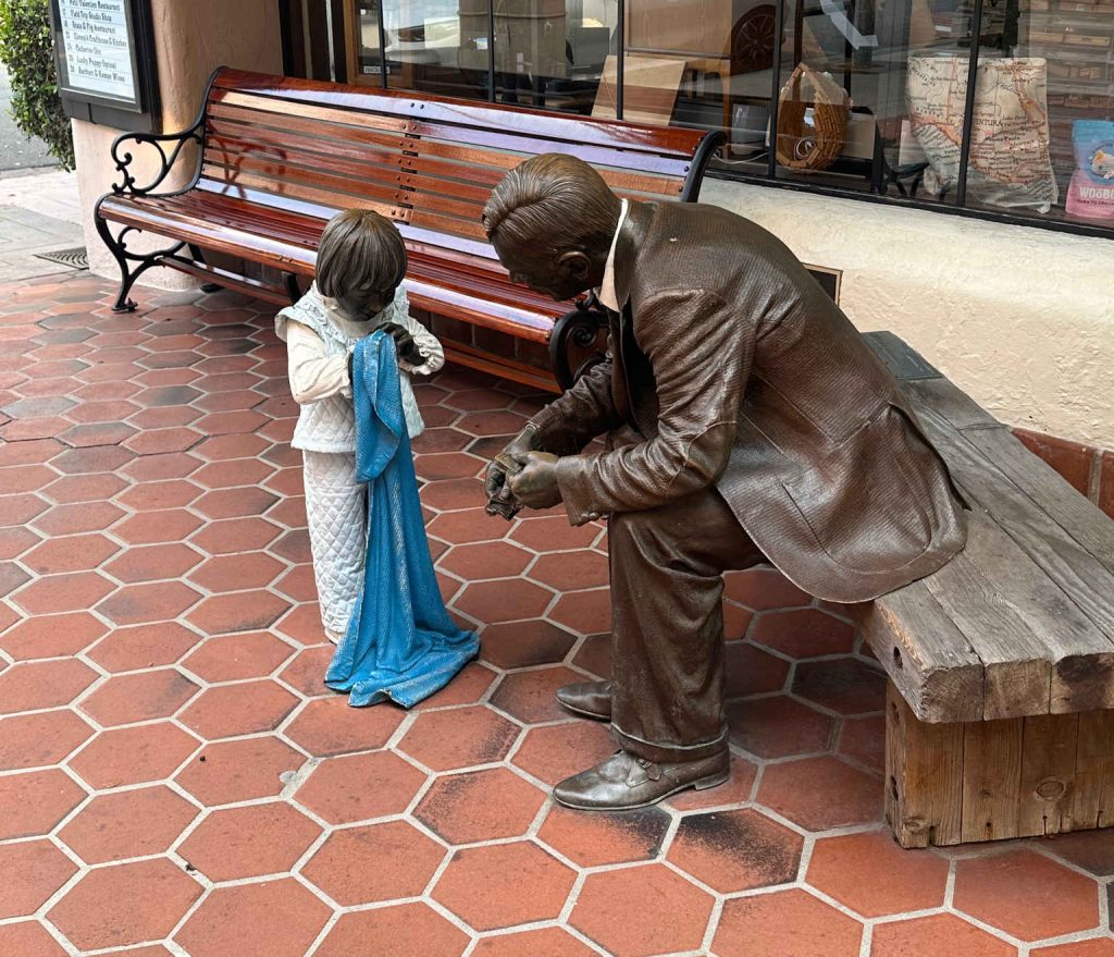
[[[369,207],[408,244],[494,259],[491,187],[538,153],[592,163],[620,195],[695,200],[714,134],[223,69],[198,187],[328,219]]]

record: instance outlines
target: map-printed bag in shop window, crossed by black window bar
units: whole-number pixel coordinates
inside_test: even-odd
[[[909,124],[929,163],[925,184],[941,194],[959,181],[967,76],[967,57],[909,58]],[[1046,213],[1058,192],[1048,155],[1045,60],[1003,58],[979,64],[968,196],[988,205]]]

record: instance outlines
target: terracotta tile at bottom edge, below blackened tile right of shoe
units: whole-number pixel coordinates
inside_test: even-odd
[[[859,957],[861,940],[862,925],[853,918],[803,890],[782,890],[729,900],[712,949],[722,957]],[[908,955],[936,953],[948,951],[932,946]],[[967,957],[969,951],[951,953]]]

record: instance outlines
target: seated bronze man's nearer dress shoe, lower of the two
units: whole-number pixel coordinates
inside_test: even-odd
[[[646,761],[619,751],[588,771],[554,787],[554,800],[578,811],[628,811],[695,787],[715,787],[731,775],[727,748],[712,757],[673,764]]]

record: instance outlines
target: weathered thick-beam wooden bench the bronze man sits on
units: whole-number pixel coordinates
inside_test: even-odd
[[[867,338],[970,509],[949,564],[854,607],[889,676],[897,840],[1114,824],[1114,521],[896,336]]]

